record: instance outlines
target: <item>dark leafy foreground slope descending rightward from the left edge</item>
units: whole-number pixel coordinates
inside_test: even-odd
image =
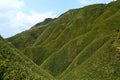
[[[54,80],[0,37],[0,80]]]

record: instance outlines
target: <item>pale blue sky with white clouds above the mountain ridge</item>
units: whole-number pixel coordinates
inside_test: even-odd
[[[0,0],[0,35],[8,38],[45,18],[56,18],[70,9],[111,1],[113,0]]]

